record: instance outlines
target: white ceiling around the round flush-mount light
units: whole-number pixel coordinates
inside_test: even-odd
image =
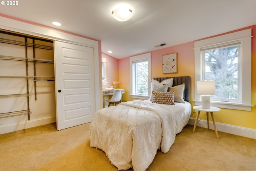
[[[111,16],[119,3],[132,7],[130,20]],[[120,59],[255,25],[256,0],[19,0],[0,13],[101,40]]]

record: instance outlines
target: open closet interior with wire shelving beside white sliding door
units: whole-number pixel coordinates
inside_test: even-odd
[[[55,101],[53,40],[0,30],[0,133],[56,120]]]

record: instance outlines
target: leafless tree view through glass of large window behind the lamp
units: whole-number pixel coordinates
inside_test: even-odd
[[[207,50],[204,80],[215,80],[216,94],[213,98],[238,99],[238,46]]]

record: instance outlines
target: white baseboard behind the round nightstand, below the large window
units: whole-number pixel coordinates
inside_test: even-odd
[[[194,125],[195,121],[196,121],[196,118],[190,117],[188,124]],[[205,128],[207,128],[207,120],[201,119],[200,121],[198,121],[197,126],[200,126],[200,125],[203,125]],[[256,129],[240,127],[236,125],[229,125],[226,123],[219,123],[219,122],[215,122],[215,125],[217,128],[217,131],[256,139]],[[209,121],[209,127],[210,129],[214,130],[212,121]]]

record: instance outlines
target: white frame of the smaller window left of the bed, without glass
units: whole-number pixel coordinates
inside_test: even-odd
[[[135,76],[134,76],[134,62],[147,61],[148,62],[148,95],[135,94]],[[150,82],[151,82],[151,53],[137,55],[130,57],[130,97],[136,99],[149,99],[150,97]]]

